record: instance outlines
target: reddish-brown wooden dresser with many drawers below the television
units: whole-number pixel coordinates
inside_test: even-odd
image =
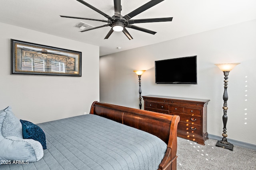
[[[170,96],[142,96],[144,110],[179,115],[178,137],[204,145],[208,139],[207,104],[210,100]]]

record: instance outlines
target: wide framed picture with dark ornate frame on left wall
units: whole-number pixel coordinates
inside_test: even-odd
[[[11,39],[11,74],[82,76],[82,52]]]

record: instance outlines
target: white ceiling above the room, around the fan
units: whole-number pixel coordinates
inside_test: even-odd
[[[114,15],[113,0],[84,1],[109,16]],[[121,0],[122,16],[149,1]],[[255,20],[256,0],[164,0],[132,19],[173,17],[173,20],[134,24],[157,33],[152,35],[127,28],[134,38],[132,40],[122,32],[114,32],[108,39],[104,39],[111,27],[81,33],[81,29],[75,27],[80,21],[93,26],[106,23],[61,18],[59,15],[107,20],[76,0],[0,0],[0,22],[97,45],[100,47],[100,56]]]

